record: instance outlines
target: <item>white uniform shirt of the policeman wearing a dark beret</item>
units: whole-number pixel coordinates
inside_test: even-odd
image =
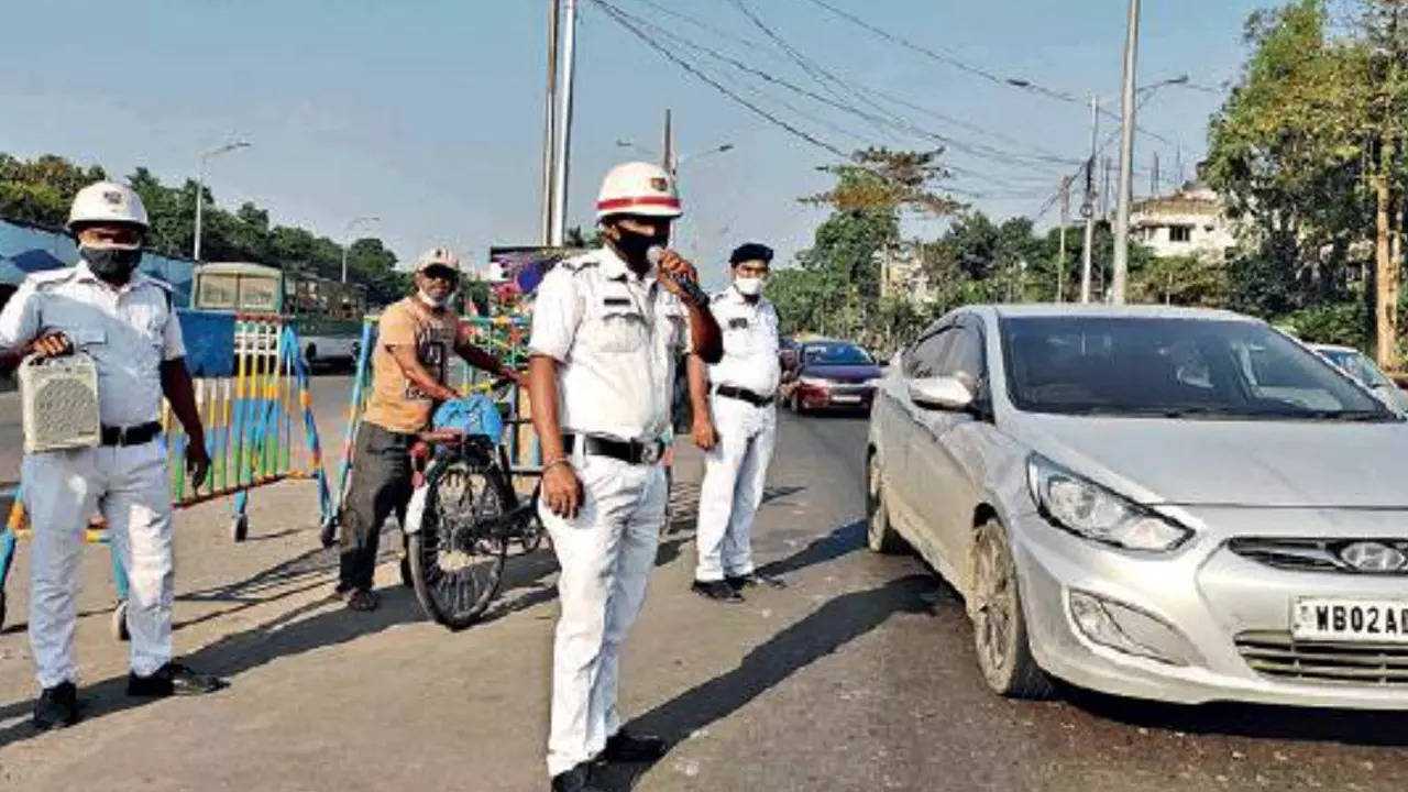
[[[714,386],[731,385],[759,396],[777,393],[783,369],[777,359],[777,310],[766,297],[749,303],[729,286],[710,303],[724,331],[724,359],[708,368]]]

